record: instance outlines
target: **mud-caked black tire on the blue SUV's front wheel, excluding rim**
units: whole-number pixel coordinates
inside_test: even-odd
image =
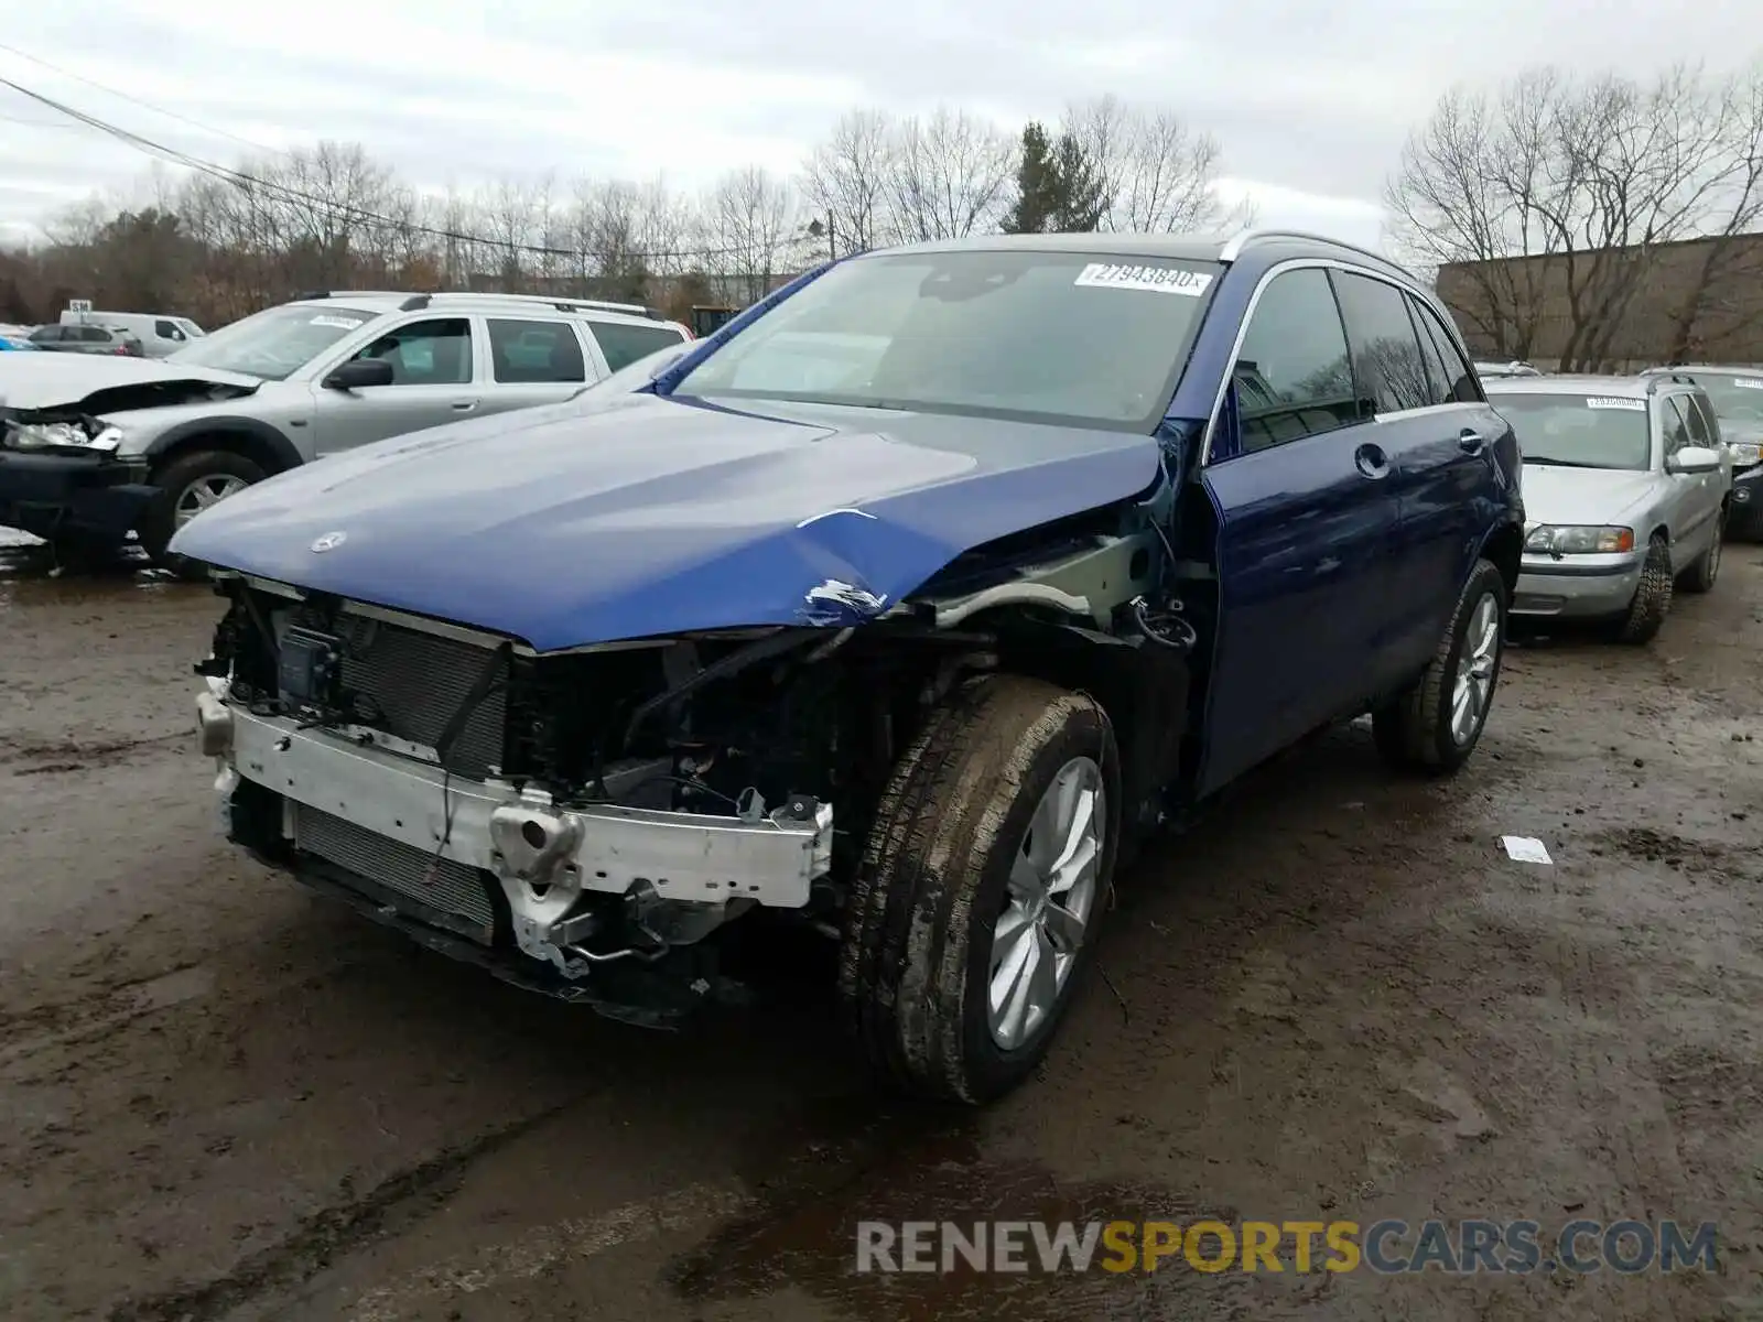
[[[1075,957],[1019,1043],[993,1035],[993,932],[1042,795],[1100,770],[1100,862]],[[874,1072],[919,1096],[989,1102],[1040,1063],[1095,948],[1120,836],[1120,754],[1095,700],[1019,675],[957,691],[894,767],[853,880],[839,1001]]]

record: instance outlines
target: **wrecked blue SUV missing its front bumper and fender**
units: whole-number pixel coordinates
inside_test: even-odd
[[[1470,756],[1521,541],[1446,310],[1255,233],[848,257],[635,393],[284,472],[173,550],[231,601],[199,726],[252,855],[643,1022],[730,920],[806,920],[876,1068],[982,1102],[1158,823],[1361,712]]]

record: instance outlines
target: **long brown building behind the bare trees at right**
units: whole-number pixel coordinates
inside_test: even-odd
[[[1449,263],[1437,291],[1484,360],[1763,363],[1763,234]]]

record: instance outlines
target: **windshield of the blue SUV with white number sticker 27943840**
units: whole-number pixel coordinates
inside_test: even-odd
[[[675,393],[1149,430],[1216,270],[1065,252],[859,257],[760,317]]]

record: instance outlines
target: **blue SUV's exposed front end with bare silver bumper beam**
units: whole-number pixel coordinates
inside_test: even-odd
[[[569,999],[598,1005],[614,969],[638,966],[707,987],[700,943],[749,910],[837,934],[896,761],[993,670],[1130,710],[1134,807],[1155,821],[1194,626],[1179,603],[1100,610],[1072,590],[1118,598],[1149,580],[1146,552],[1075,527],[1037,538],[1031,561],[998,546],[950,566],[924,601],[864,624],[548,654],[220,575],[231,606],[197,666],[205,751],[224,763],[236,843],[376,917],[527,955],[527,985],[541,961],[541,989]]]

